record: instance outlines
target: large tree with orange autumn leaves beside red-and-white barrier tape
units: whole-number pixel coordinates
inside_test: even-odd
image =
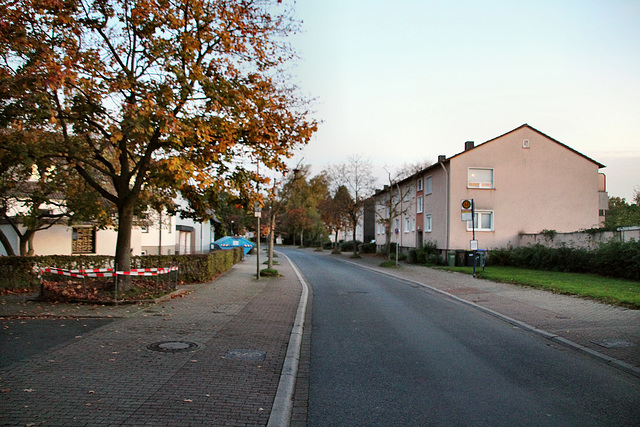
[[[182,192],[204,218],[205,194],[250,198],[266,181],[252,163],[285,170],[316,130],[284,78],[296,22],[280,0],[0,9],[0,147],[8,135],[60,136],[43,149],[117,209],[119,269],[130,266],[137,210]]]

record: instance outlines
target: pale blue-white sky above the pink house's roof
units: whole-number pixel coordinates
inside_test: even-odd
[[[639,0],[297,0],[290,42],[320,121],[290,164],[386,170],[529,124],[640,189]]]

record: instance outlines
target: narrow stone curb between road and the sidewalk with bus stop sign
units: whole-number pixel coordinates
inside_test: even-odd
[[[536,327],[534,327],[532,325],[529,325],[528,323],[522,322],[520,320],[513,319],[513,318],[511,318],[509,316],[506,316],[504,314],[498,313],[497,311],[491,310],[489,308],[486,308],[486,307],[483,307],[481,305],[478,305],[478,304],[476,304],[474,302],[467,301],[465,299],[462,299],[460,297],[452,295],[452,294],[450,294],[448,292],[445,292],[445,291],[442,291],[440,289],[434,288],[433,286],[429,286],[429,285],[426,285],[424,283],[416,282],[416,281],[411,280],[411,279],[405,279],[403,277],[396,276],[396,275],[394,275],[392,273],[388,273],[386,271],[381,271],[381,270],[378,270],[378,269],[373,268],[373,267],[369,267],[369,266],[366,266],[366,265],[358,264],[357,262],[347,261],[347,260],[341,260],[341,261],[342,262],[348,262],[350,264],[356,265],[356,266],[361,267],[361,268],[365,268],[367,270],[373,271],[374,273],[378,273],[378,274],[381,274],[381,275],[384,275],[384,276],[388,276],[388,277],[393,277],[395,279],[402,280],[404,282],[411,283],[411,284],[414,284],[414,285],[422,286],[423,288],[429,289],[429,290],[431,290],[433,292],[436,292],[437,294],[443,295],[443,296],[445,296],[447,298],[450,298],[450,299],[453,299],[455,301],[458,301],[458,302],[461,302],[463,304],[466,304],[466,305],[468,305],[470,307],[473,307],[473,308],[475,308],[477,310],[480,310],[480,311],[482,311],[482,312],[484,312],[486,314],[489,314],[489,315],[491,315],[491,316],[493,316],[493,317],[495,317],[497,319],[500,319],[500,320],[502,320],[504,322],[507,322],[507,323],[509,323],[511,325],[517,326],[517,327],[522,328],[524,330],[527,330],[529,332],[533,332],[533,333],[535,333],[537,335],[540,335],[541,337],[546,338],[548,340],[551,340],[551,341],[553,341],[553,342],[555,342],[557,344],[561,344],[561,345],[563,345],[565,347],[572,348],[572,349],[577,350],[577,351],[579,351],[579,352],[581,352],[583,354],[586,354],[588,356],[597,358],[600,361],[605,362],[607,365],[610,365],[610,366],[612,366],[612,367],[614,367],[616,369],[619,369],[621,371],[626,372],[627,374],[630,374],[630,375],[633,375],[635,377],[640,378],[640,368],[636,368],[635,366],[630,365],[628,363],[625,363],[625,362],[623,362],[621,360],[614,359],[613,357],[610,357],[610,356],[607,356],[605,354],[602,354],[602,353],[600,353],[600,352],[598,352],[596,350],[592,350],[592,349],[590,349],[588,347],[585,347],[585,346],[580,345],[578,343],[575,343],[575,342],[573,342],[571,340],[563,338],[563,337],[561,337],[561,336],[559,336],[557,334],[553,334],[551,332],[548,332],[548,331],[545,331],[545,330],[542,330],[542,329],[538,329],[538,328],[536,328]]]

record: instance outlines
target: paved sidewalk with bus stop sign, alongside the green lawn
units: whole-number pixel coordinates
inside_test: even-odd
[[[569,345],[640,376],[640,310],[405,263],[382,268],[379,257],[349,255],[339,256],[471,303],[516,327],[535,330],[552,343]]]

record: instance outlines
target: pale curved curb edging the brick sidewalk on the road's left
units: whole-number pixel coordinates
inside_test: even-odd
[[[293,271],[296,273],[296,276],[302,285],[302,295],[300,296],[300,302],[298,303],[296,319],[293,323],[293,328],[291,329],[291,338],[289,339],[289,345],[287,347],[287,355],[285,356],[284,364],[282,366],[280,382],[278,383],[276,397],[273,400],[267,427],[287,427],[291,424],[293,392],[296,386],[296,377],[298,375],[302,334],[304,331],[304,319],[307,311],[307,300],[309,298],[309,286],[302,277],[298,268],[293,262],[291,262],[288,256],[281,252],[278,252],[278,254],[287,259],[289,265],[291,265]]]

